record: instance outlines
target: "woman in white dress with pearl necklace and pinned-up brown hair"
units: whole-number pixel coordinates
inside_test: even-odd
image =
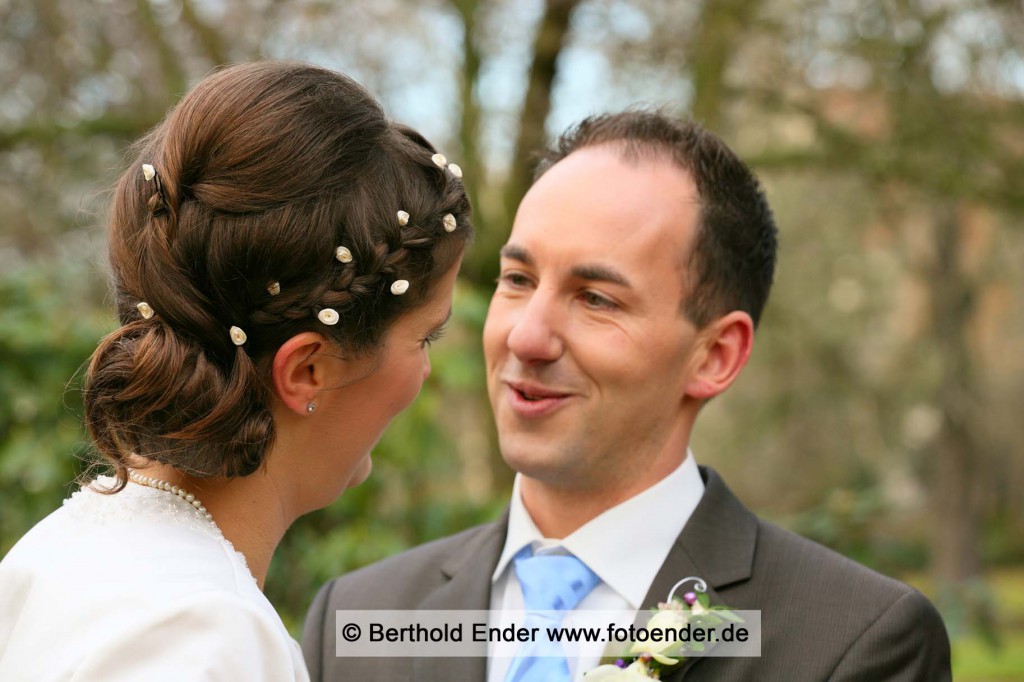
[[[86,377],[112,475],[0,562],[0,679],[308,679],[267,566],[430,372],[460,176],[294,62],[208,77],[140,140],[110,212],[121,327]]]

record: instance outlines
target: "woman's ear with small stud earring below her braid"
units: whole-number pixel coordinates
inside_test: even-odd
[[[273,356],[273,388],[286,408],[298,415],[317,394],[338,385],[337,347],[315,332],[303,332],[283,343]]]

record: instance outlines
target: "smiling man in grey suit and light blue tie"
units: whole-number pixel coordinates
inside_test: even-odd
[[[711,133],[653,113],[588,119],[556,148],[502,249],[483,332],[518,472],[508,512],[325,586],[303,637],[312,679],[581,679],[601,645],[532,671],[527,656],[335,656],[336,609],[489,608],[495,623],[562,589],[539,561],[568,567],[580,609],[649,609],[699,577],[713,604],[761,611],[760,657],[690,658],[666,680],[950,679],[925,597],[760,520],[689,451],[772,282],[757,179]]]

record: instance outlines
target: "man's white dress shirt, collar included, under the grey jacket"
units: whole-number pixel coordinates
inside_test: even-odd
[[[683,526],[703,496],[703,481],[693,454],[671,474],[646,491],[612,507],[590,520],[563,540],[545,538],[522,503],[519,476],[512,488],[509,527],[505,548],[492,577],[492,627],[506,627],[510,621],[499,611],[522,611],[522,590],[512,566],[512,559],[527,545],[537,555],[573,554],[601,582],[584,597],[578,610],[636,611],[640,608],[654,577],[665,563]],[[666,595],[668,596],[668,595]],[[632,615],[622,625],[632,622]],[[572,612],[564,627],[579,625]],[[487,682],[503,682],[520,644],[490,643],[487,648]],[[604,642],[581,644],[579,656],[567,658],[569,676],[582,680],[583,674],[597,667]]]

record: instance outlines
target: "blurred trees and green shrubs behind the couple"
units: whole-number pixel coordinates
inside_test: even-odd
[[[373,476],[274,559],[293,632],[329,578],[500,513],[479,347],[497,249],[535,150],[646,103],[749,161],[781,230],[697,460],[929,594],[957,679],[1024,680],[1020,0],[0,0],[0,555],[90,456],[80,382],[116,324],[104,210],[128,143],[218,65],[263,57],[367,85],[462,166],[479,231]]]

